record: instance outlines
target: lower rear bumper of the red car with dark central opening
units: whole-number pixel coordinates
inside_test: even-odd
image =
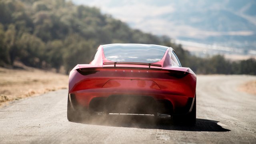
[[[106,113],[183,115],[194,98],[181,93],[150,89],[98,88],[69,94],[74,110]]]

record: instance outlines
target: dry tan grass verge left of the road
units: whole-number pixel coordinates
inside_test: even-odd
[[[0,68],[0,106],[13,100],[68,88],[68,76],[34,68]]]

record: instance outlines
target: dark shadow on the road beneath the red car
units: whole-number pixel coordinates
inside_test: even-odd
[[[128,128],[180,130],[180,131],[205,131],[205,132],[228,132],[230,130],[222,128],[216,120],[196,119],[194,126],[173,122],[170,116],[155,117],[154,115],[134,115],[134,114],[109,114],[104,116],[97,114],[89,119],[78,121],[81,124],[92,124],[102,126],[116,126]]]

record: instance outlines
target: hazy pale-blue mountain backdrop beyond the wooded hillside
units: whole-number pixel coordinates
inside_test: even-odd
[[[256,0],[72,0],[153,34],[256,50]]]

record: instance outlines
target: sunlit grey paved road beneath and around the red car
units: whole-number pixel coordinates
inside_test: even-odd
[[[68,122],[67,90],[0,108],[0,143],[256,143],[256,96],[237,86],[253,76],[198,76],[196,126],[168,118],[110,116]]]

